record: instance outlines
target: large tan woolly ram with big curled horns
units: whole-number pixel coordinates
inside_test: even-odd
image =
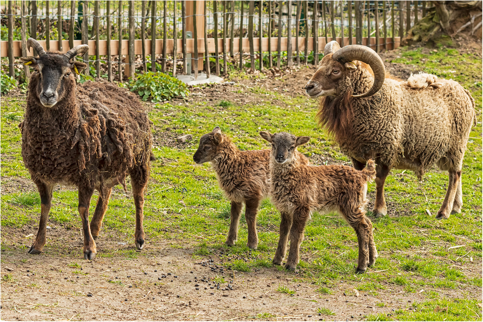
[[[461,169],[476,119],[474,100],[460,84],[426,73],[400,80],[369,47],[330,41],[305,90],[321,96],[318,121],[356,169],[376,160],[375,215],[387,214],[384,181],[392,168],[412,170],[421,180],[435,163],[449,173],[436,218],[461,212]]]

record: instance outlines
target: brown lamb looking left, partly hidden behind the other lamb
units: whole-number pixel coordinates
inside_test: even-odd
[[[303,155],[300,160],[308,163]],[[267,198],[270,190],[270,150],[239,150],[220,127],[199,139],[198,150],[193,155],[197,164],[210,162],[218,179],[218,185],[231,201],[230,228],[226,244],[233,246],[238,238],[241,207],[245,203],[245,220],[248,225],[249,248],[256,249],[256,215],[260,202]]]

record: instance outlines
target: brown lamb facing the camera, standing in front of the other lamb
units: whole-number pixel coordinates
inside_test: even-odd
[[[314,211],[337,212],[357,234],[359,256],[357,273],[363,273],[377,258],[372,223],[364,210],[367,183],[376,176],[374,161],[362,171],[345,165],[311,166],[300,162],[297,147],[308,136],[288,133],[260,135],[272,144],[270,158],[271,201],[282,215],[280,239],[273,264],[284,260],[290,231],[290,252],[286,269],[294,270],[299,261],[299,247],[307,220]]]

